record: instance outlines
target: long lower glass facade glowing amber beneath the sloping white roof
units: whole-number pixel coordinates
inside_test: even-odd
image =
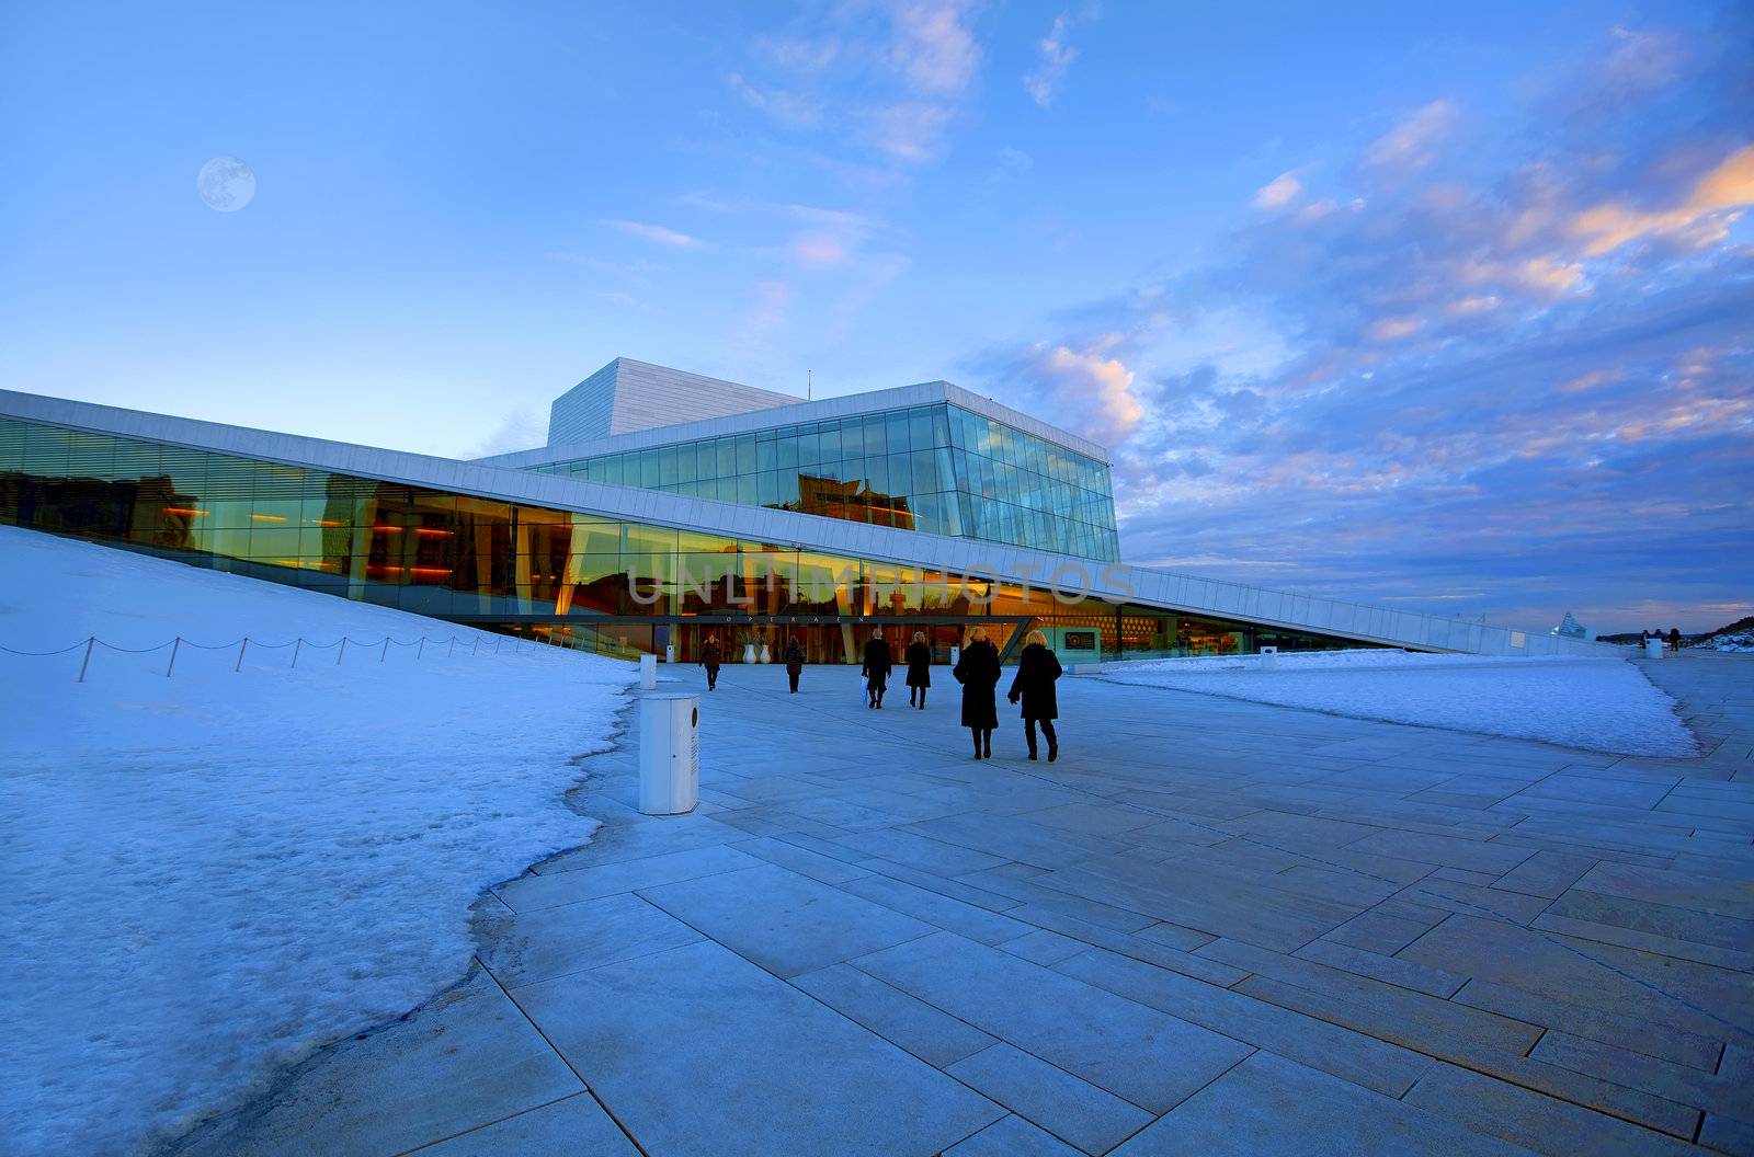
[[[672,645],[684,661],[707,635],[733,659],[796,635],[812,661],[852,661],[879,624],[926,631],[940,657],[970,622],[1002,647],[1031,626],[1079,628],[1105,654],[1347,645],[16,419],[0,419],[0,524],[610,654]]]

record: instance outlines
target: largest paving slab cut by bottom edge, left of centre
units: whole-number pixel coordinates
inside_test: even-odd
[[[1005,1115],[714,943],[517,1001],[647,1153],[931,1157]]]

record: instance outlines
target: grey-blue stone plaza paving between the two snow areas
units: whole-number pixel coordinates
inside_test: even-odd
[[[460,987],[175,1150],[1754,1153],[1754,657],[1642,666],[1701,759],[1068,677],[977,763],[942,668],[730,666],[696,813],[582,761]]]

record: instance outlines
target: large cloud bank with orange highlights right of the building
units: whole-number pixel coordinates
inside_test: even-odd
[[[1684,612],[1749,598],[1754,174],[1745,65],[1708,47],[1572,116],[1631,67],[1610,37],[1466,154],[1428,105],[1331,160],[1359,188],[1324,212],[1280,186],[1221,258],[966,380],[1110,447],[1128,557],[1529,628],[1715,626]]]

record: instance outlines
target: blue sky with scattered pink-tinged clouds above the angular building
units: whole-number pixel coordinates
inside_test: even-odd
[[[617,354],[945,377],[1112,445],[1131,561],[1715,626],[1750,54],[1708,4],[23,0],[0,368],[437,454]]]

